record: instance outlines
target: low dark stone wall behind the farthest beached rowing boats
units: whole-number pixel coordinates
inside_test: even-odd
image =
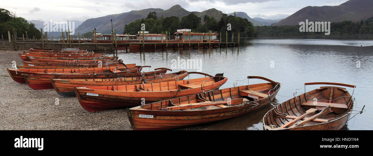
[[[41,42],[17,42],[17,49],[23,50],[27,47],[35,47],[41,48]],[[97,48],[93,43],[72,43],[72,48],[79,48],[81,50],[88,50],[88,51],[113,51],[115,50],[115,45],[111,43],[100,43],[97,44]],[[70,44],[68,43],[44,43],[44,48],[50,49],[62,49],[62,48],[70,48]],[[14,42],[0,42],[0,51],[9,51],[15,50]]]

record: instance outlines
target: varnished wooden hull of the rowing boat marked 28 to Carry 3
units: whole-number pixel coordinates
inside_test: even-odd
[[[259,84],[257,84],[259,85]],[[261,84],[266,85],[266,84]],[[250,85],[250,88],[254,88],[255,85]],[[230,99],[242,98],[239,95],[239,90],[246,89],[246,86],[232,87],[220,90],[214,90],[209,92],[200,93],[201,97],[206,98],[209,101],[225,101]],[[280,86],[274,92],[270,92],[271,95],[266,98],[254,101],[259,105],[253,105],[256,103],[246,103],[230,107],[209,109],[209,107],[199,110],[185,110],[185,111],[162,111],[159,108],[164,108],[168,104],[167,101],[155,102],[151,105],[152,110],[148,110],[150,106],[137,106],[134,108],[127,109],[127,114],[131,127],[134,130],[169,130],[178,127],[185,127],[196,124],[203,124],[209,122],[215,122],[225,120],[228,118],[238,117],[260,108],[263,108],[270,101],[275,99]],[[188,104],[188,101],[193,101],[197,95],[190,95],[176,99],[170,99],[174,103],[178,101],[185,101],[181,104]],[[192,103],[192,102],[189,102]],[[141,109],[146,107],[147,109]],[[153,110],[155,108],[155,110]],[[143,118],[140,115],[148,115],[152,118]]]

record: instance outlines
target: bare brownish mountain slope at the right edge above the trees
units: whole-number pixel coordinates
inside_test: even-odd
[[[299,25],[299,22],[358,22],[373,17],[373,0],[349,0],[339,6],[307,6],[275,25]]]

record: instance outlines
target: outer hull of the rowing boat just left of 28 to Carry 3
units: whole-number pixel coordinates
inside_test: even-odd
[[[225,78],[214,84],[204,86],[204,89],[219,89],[219,87],[222,86],[226,81],[227,79]],[[175,83],[175,81],[170,81],[167,83]],[[85,87],[74,87],[74,90],[82,107],[90,112],[139,106],[141,104],[150,104],[157,101],[163,101],[202,92],[200,87],[182,91],[171,90],[160,92],[119,92],[113,90],[85,89]]]

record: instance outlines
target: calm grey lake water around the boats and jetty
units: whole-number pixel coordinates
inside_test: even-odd
[[[163,51],[157,49],[155,51],[145,50],[145,52],[132,50],[131,53],[119,50],[118,56],[125,63],[151,66],[149,70],[157,67],[172,69],[178,57],[198,61],[201,59],[201,68],[174,69],[173,71],[200,70],[211,75],[224,73],[228,81],[221,88],[233,87],[235,80],[240,80],[236,81],[238,85],[247,85],[247,76],[267,77],[282,83],[276,96],[276,102],[279,103],[293,98],[294,89],[301,88],[296,91],[303,93],[303,84],[306,82],[337,82],[355,85],[357,87],[353,95],[356,99],[354,110],[360,111],[363,105],[366,105],[366,112],[356,115],[342,129],[373,130],[371,100],[373,97],[373,35],[241,38],[239,48],[190,50],[169,48]],[[197,77],[201,76],[196,74],[190,76],[191,79]],[[263,82],[265,81],[250,79],[249,83]],[[306,92],[318,87],[320,85],[306,86]],[[347,89],[352,94],[353,89],[348,87]],[[179,129],[263,130],[262,118],[271,108],[273,106],[268,105],[240,117]]]

